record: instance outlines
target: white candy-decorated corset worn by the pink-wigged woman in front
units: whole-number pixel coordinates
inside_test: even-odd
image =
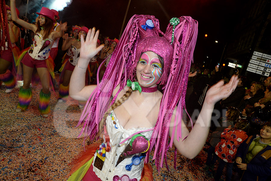
[[[114,120],[112,120],[112,118]],[[131,138],[126,140],[123,144],[120,143],[124,141],[126,138],[128,138],[130,135],[145,130],[146,130],[145,132],[141,132],[140,134],[144,135],[147,139],[150,140],[153,130],[147,131],[148,129],[151,128],[124,129],[122,125],[120,125],[113,110],[111,111],[111,114],[107,116],[106,125],[107,125],[107,134],[109,135],[110,138],[111,149],[109,152],[105,153],[106,154],[105,160],[101,170],[94,166],[94,161],[97,157],[97,152],[95,152],[92,163],[93,171],[101,180],[113,180],[114,176],[122,177],[123,175],[127,175],[129,176],[129,179],[136,178],[139,181],[141,179],[141,174],[144,167],[144,158],[141,159],[138,165],[132,165],[130,171],[127,171],[125,166],[133,163],[132,157],[136,155],[141,156],[142,153],[132,154],[128,158],[122,160],[116,166],[120,154],[123,153],[124,149],[129,144]]]

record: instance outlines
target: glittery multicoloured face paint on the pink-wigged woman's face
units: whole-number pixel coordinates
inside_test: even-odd
[[[139,63],[144,63],[146,65],[151,65],[154,69],[151,71],[151,74],[153,76],[153,80],[148,83],[147,85],[152,84],[155,80],[159,79],[162,75],[162,65],[160,63],[160,60],[156,57],[152,58],[150,60],[150,57],[147,53],[143,53],[142,56],[139,59]]]

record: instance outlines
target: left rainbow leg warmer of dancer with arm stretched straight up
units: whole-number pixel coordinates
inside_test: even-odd
[[[19,91],[19,103],[17,105],[17,108],[20,108],[22,111],[26,110],[28,105],[30,104],[32,98],[32,91],[31,89],[23,89],[23,87],[20,87]]]

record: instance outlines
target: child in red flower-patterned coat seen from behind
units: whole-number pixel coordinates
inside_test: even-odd
[[[235,154],[239,145],[248,138],[248,135],[246,134],[248,125],[247,120],[238,119],[234,128],[226,128],[223,133],[221,133],[222,139],[215,148],[215,154],[220,158],[216,170],[215,181],[220,180],[225,165],[227,166],[226,181],[231,180]]]

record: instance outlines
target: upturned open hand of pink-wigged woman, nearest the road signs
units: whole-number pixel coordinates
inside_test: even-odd
[[[213,106],[217,101],[229,97],[235,90],[238,81],[238,76],[233,75],[229,83],[225,85],[223,80],[217,82],[207,91],[205,102]]]

